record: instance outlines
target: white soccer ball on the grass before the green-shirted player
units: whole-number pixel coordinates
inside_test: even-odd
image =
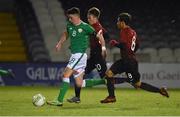
[[[32,103],[35,105],[35,106],[43,106],[46,102],[46,98],[42,95],[42,94],[36,94],[32,97]]]

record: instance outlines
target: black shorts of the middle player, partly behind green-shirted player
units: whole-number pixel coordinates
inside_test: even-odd
[[[101,53],[90,56],[87,60],[85,74],[89,74],[94,69],[97,69],[101,78],[105,76],[107,70],[106,60],[102,57]]]

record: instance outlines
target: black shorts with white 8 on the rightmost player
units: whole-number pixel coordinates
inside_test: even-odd
[[[128,82],[131,84],[135,84],[140,81],[138,62],[135,59],[120,59],[111,66],[110,70],[114,73],[114,75],[125,72]]]

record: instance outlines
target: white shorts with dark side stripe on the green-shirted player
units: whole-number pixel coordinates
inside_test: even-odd
[[[76,78],[85,71],[86,64],[87,54],[75,53],[71,55],[67,67],[75,71],[73,75]]]

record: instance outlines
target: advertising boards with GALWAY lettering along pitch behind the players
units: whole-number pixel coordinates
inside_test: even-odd
[[[107,63],[108,68],[112,63]],[[66,63],[0,63],[0,69],[11,70],[15,74],[15,79],[10,77],[0,77],[0,85],[10,86],[56,86],[60,85],[62,74]],[[141,81],[150,83],[158,87],[180,88],[180,64],[149,64],[140,63],[139,71]],[[124,73],[116,77],[126,77]],[[85,76],[85,78],[100,78],[97,71]],[[73,86],[74,79],[71,78]],[[102,86],[102,85],[101,85]],[[105,87],[102,86],[102,87]],[[132,87],[124,83],[117,87]]]

